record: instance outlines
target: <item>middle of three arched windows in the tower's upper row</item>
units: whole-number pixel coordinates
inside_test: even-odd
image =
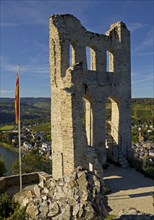
[[[90,47],[86,47],[87,69],[96,70],[96,52]]]

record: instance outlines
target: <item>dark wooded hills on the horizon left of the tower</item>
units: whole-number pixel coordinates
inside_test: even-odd
[[[24,124],[49,121],[50,98],[21,98],[21,120]],[[14,99],[0,98],[0,125],[14,122]]]

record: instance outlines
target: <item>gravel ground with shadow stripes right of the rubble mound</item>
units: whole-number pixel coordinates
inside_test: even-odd
[[[134,168],[123,169],[111,164],[104,170],[104,182],[112,193],[108,195],[110,214],[118,215],[122,209],[134,207],[154,215],[154,180],[144,177]]]

